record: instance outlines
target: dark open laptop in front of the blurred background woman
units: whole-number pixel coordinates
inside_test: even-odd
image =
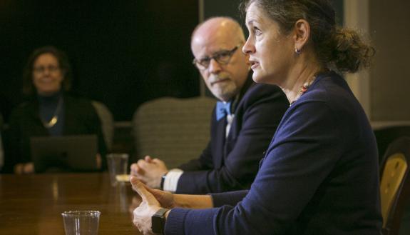
[[[30,138],[36,172],[96,171],[97,136],[36,136]]]

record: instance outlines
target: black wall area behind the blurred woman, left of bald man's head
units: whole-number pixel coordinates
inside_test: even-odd
[[[116,121],[160,96],[198,96],[190,33],[198,1],[1,0],[0,111],[21,102],[31,51],[54,45],[74,70],[73,91],[105,103]]]

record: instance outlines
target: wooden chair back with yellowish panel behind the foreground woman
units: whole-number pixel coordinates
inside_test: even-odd
[[[386,151],[380,182],[384,234],[399,234],[401,216],[410,196],[410,138],[400,137]]]

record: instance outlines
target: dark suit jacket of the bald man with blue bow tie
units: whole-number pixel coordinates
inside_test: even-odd
[[[211,137],[199,159],[180,166],[176,193],[207,194],[249,189],[258,163],[289,107],[278,86],[248,79],[240,93],[235,118],[225,139],[226,119],[212,113]]]

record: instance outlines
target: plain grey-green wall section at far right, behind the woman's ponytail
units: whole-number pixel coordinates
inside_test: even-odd
[[[370,69],[371,119],[409,121],[410,1],[369,1],[370,36],[376,47]]]

